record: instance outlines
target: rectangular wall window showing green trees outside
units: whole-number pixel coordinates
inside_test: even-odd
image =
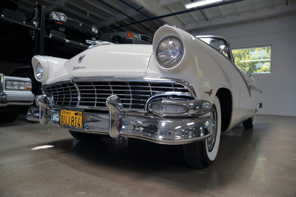
[[[271,66],[271,47],[232,50],[234,62],[247,73],[268,73]]]

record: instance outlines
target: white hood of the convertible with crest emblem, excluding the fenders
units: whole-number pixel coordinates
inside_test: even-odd
[[[145,76],[151,54],[152,45],[108,44],[85,50],[64,66],[70,76]]]

